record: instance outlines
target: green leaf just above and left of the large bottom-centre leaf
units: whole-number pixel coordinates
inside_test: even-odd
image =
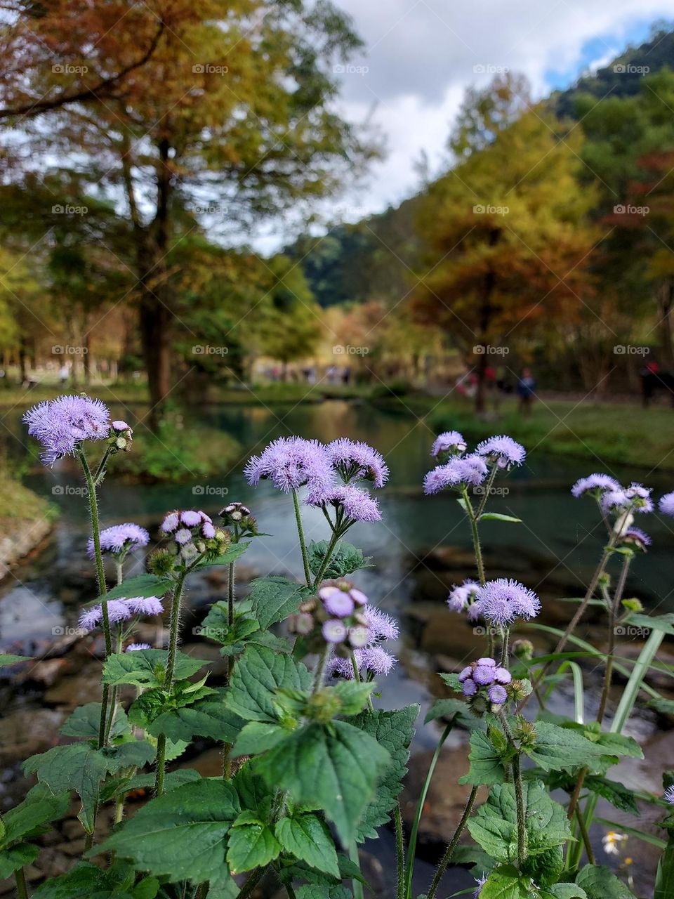
[[[309,690],[312,675],[292,656],[262,646],[249,646],[236,662],[227,693],[227,706],[253,721],[277,722],[279,688]]]

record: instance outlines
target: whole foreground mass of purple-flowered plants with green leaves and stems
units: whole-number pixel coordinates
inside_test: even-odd
[[[13,873],[20,899],[28,896],[24,866],[37,856],[36,840],[66,814],[74,794],[86,835],[84,859],[46,880],[36,899],[245,899],[265,876],[289,899],[361,899],[359,844],[389,822],[395,828],[395,899],[413,899],[424,799],[442,745],[459,727],[470,734],[470,768],[462,779],[470,795],[424,899],[439,895],[453,861],[472,866],[474,895],[481,899],[633,895],[596,863],[589,829],[599,797],[636,812],[634,795],[608,772],[622,756],[641,756],[623,729],[670,628],[667,616],[646,618],[636,601],[623,596],[629,565],[650,544],[633,524],[634,514],[653,509],[647,488],[624,488],[606,475],[582,478],[572,488],[576,497],[594,498],[607,542],[569,627],[547,628],[558,638],[554,652],[536,655],[530,641],[513,642],[510,632],[542,628],[541,601],[522,583],[488,580],[480,541],[483,521],[519,521],[485,510],[495,479],[521,465],[525,450],[501,436],[467,453],[461,434],[439,435],[432,449],[439,464],[426,476],[425,491],[457,495],[475,555],[474,578],[452,589],[448,616],[479,623],[486,640],[483,655],[440,675],[453,695],[439,699],[426,717],[441,720],[444,729],[405,839],[398,797],[419,708],[379,704],[377,680],[395,666],[388,642],[399,629],[350,580],[368,559],[344,540],[356,522],[381,520],[370,492],[388,478],[379,453],[346,439],[324,445],[283,438],[250,459],[244,473],[251,485],[268,480],[291,497],[305,578],[257,578],[239,599],[236,563],[261,536],[249,508],[229,503],[217,522],[200,510],[168,512],[146,573],[125,576],[128,554],[146,547],[149,534],[131,522],[101,530],[97,489],[115,452],[129,449],[129,427],[110,423],[107,409],[87,397],[59,397],[31,409],[26,421],[43,445],[46,464],[70,454],[83,468],[92,521],[88,551],[99,595],[80,623],[86,631],[101,628],[105,657],[101,702],[77,708],[67,719],[62,734],[72,742],[24,763],[38,783],[0,818],[0,877]],[[85,441],[106,441],[93,470]],[[326,539],[307,545],[303,503],[323,512]],[[660,509],[674,513],[674,494],[662,497]],[[106,559],[115,571],[110,589]],[[610,567],[616,560],[614,584]],[[209,678],[208,662],[180,650],[185,591],[191,574],[207,566],[227,572],[226,602],[212,604],[200,628],[226,659],[224,683]],[[590,601],[603,603],[606,612],[606,652],[574,634]],[[163,610],[169,616],[167,645],[134,640],[137,619]],[[625,670],[613,635],[619,624],[644,619],[651,636]],[[569,644],[576,647],[572,652]],[[0,663],[13,661],[0,657]],[[589,720],[583,662],[604,671],[599,707]],[[627,683],[605,727],[616,671]],[[567,676],[574,685],[572,720],[546,708]],[[130,701],[129,688],[135,694]],[[665,701],[650,686],[648,691],[655,702]],[[221,744],[220,777],[168,767],[196,738]],[[662,826],[674,834],[674,784],[665,786],[662,797],[651,799],[668,811]],[[127,797],[140,788],[153,796],[129,816]],[[558,801],[564,794],[568,798]],[[105,832],[96,825],[109,804],[113,826]],[[674,837],[662,855],[657,899],[672,895],[672,883]]]

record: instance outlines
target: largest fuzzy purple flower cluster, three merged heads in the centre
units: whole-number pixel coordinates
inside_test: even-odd
[[[341,438],[324,445],[300,437],[281,437],[250,458],[244,467],[248,483],[263,479],[283,493],[306,486],[307,505],[332,505],[349,526],[355,521],[381,521],[377,501],[354,482],[383,487],[388,480],[384,458],[367,443]]]

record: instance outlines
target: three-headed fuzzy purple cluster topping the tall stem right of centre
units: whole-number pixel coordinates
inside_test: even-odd
[[[474,453],[464,456],[466,441],[457,431],[439,435],[433,443],[430,455],[443,461],[423,479],[425,494],[439,494],[445,487],[463,490],[481,485],[489,474],[490,466],[510,469],[521,465],[527,453],[521,444],[511,437],[490,437],[478,443]]]

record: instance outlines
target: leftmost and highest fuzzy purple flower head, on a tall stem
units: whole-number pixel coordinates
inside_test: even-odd
[[[23,415],[28,433],[42,444],[45,465],[72,456],[82,441],[101,441],[110,432],[110,412],[88,396],[57,396],[34,405]]]

